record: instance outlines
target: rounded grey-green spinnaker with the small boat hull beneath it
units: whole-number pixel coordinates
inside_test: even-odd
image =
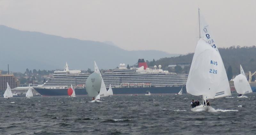
[[[100,102],[101,81],[101,76],[95,72],[86,79],[86,92],[88,96],[93,97],[91,102]]]

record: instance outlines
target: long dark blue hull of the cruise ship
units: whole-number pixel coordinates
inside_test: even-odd
[[[68,89],[42,89],[34,88],[42,96],[67,96]],[[151,94],[167,94],[178,93],[180,87],[142,87],[142,88],[112,88],[113,94],[145,94],[150,91]],[[75,89],[76,95],[87,95],[86,89]],[[183,87],[183,91],[186,91],[186,87]]]

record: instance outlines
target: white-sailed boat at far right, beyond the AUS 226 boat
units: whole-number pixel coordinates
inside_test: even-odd
[[[252,88],[249,82],[247,81],[247,78],[244,74],[244,69],[242,68],[241,65],[240,65],[240,74],[234,78],[234,85],[236,88],[236,92],[239,95],[241,95],[241,96],[237,96],[238,98],[247,98],[247,96],[244,96],[244,94],[252,92]]]

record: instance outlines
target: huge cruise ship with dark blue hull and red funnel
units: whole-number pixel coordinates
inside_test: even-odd
[[[33,87],[42,96],[64,96],[71,86],[76,95],[86,95],[85,81],[89,74],[81,70],[69,70],[68,64],[64,71],[55,71],[51,78],[41,85]],[[151,94],[178,93],[185,84],[188,75],[169,73],[161,69],[161,65],[148,68],[144,59],[138,60],[138,68],[127,69],[125,64],[119,64],[119,68],[112,72],[102,74],[103,81],[108,88],[111,84],[113,94]]]

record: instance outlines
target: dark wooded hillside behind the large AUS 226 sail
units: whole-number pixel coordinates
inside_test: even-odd
[[[230,46],[228,48],[218,48],[221,58],[223,60],[228,80],[231,80],[233,75],[240,74],[240,64],[242,65],[246,74],[248,71],[256,71],[256,47],[255,46]],[[146,60],[148,66],[162,65],[164,70],[170,70],[168,65],[177,65],[180,62],[192,62],[194,53],[180,55],[177,57],[165,57],[159,60],[153,59],[152,61]],[[176,73],[189,73],[190,66],[181,68],[179,65],[175,67]],[[252,77],[254,79],[255,76]]]

